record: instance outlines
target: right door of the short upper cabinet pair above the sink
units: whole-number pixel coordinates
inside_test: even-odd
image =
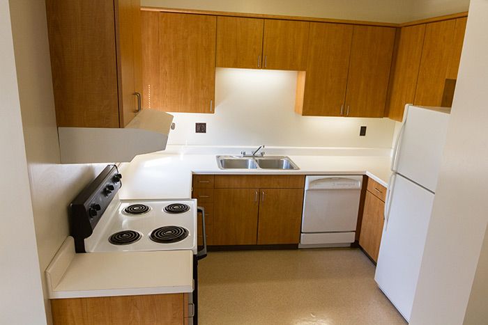
[[[266,19],[264,21],[263,68],[305,70],[310,22]]]

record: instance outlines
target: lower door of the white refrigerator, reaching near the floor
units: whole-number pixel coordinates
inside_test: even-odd
[[[396,175],[374,280],[409,321],[434,194]]]

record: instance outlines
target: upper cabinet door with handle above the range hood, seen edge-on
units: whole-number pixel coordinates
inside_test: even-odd
[[[135,93],[142,93],[141,5],[139,0],[117,0],[117,63],[119,65],[120,125],[125,127],[135,117],[138,103]]]

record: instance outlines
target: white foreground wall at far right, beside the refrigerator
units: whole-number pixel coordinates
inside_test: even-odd
[[[487,230],[487,17],[488,1],[471,1],[443,165],[413,302],[414,325],[462,324]],[[486,309],[488,296],[483,300]]]

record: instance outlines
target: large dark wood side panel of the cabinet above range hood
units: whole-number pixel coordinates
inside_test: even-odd
[[[119,127],[114,3],[47,0],[46,14],[57,125]]]

